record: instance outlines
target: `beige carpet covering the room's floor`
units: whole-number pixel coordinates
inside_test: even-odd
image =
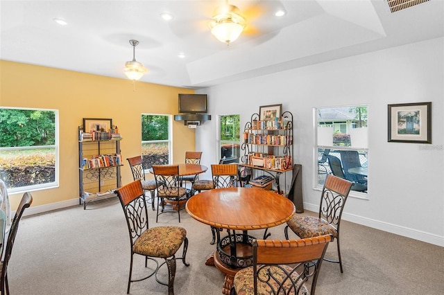
[[[179,224],[175,214],[150,211],[151,226]],[[206,266],[210,226],[181,212],[189,249],[185,267],[178,261],[175,294],[221,294],[223,275]],[[304,214],[312,214],[306,212]],[[263,231],[250,231],[260,238]],[[284,226],[271,229],[284,238]],[[296,236],[293,236],[296,237]],[[181,251],[181,250],[180,250]],[[377,231],[350,222],[341,228],[339,265],[324,262],[316,294],[443,294],[444,248]],[[336,242],[327,256],[336,254]],[[143,269],[142,260],[134,274]],[[126,294],[130,250],[123,211],[117,198],[24,217],[8,269],[11,294]],[[164,273],[166,269],[162,269]],[[130,294],[167,294],[153,278],[131,285]]]

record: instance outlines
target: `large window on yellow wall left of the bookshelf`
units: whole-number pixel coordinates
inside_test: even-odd
[[[0,178],[10,193],[58,186],[58,111],[0,107]]]

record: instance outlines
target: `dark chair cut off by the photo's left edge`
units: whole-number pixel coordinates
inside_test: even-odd
[[[0,294],[9,294],[8,284],[8,263],[12,253],[12,247],[14,246],[15,236],[19,229],[19,222],[22,219],[23,212],[26,208],[33,203],[33,196],[31,193],[24,193],[20,200],[17,211],[15,211],[14,218],[9,229],[8,240],[6,241],[6,248],[4,251],[3,259],[1,260],[1,278],[0,278]],[[4,247],[4,246],[3,246]]]

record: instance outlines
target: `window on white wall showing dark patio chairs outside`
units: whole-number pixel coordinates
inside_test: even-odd
[[[368,111],[366,105],[315,109],[315,184],[328,174],[353,182],[352,190],[368,189]],[[359,194],[355,194],[359,195]]]

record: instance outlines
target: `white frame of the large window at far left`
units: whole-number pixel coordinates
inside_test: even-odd
[[[45,184],[34,184],[32,186],[20,186],[18,188],[8,188],[10,194],[21,194],[25,192],[33,192],[36,190],[47,190],[58,188],[60,185],[60,134],[59,134],[59,111],[58,109],[42,109],[33,107],[0,107],[0,109],[22,109],[31,111],[53,111],[54,112],[54,145],[35,145],[26,147],[0,147],[2,150],[38,150],[42,148],[54,149],[54,181]]]

